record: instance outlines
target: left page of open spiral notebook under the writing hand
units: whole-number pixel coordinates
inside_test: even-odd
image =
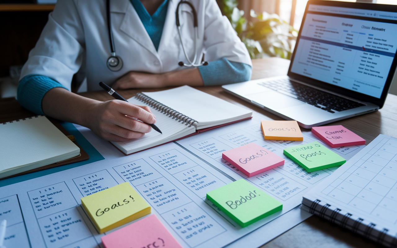
[[[135,97],[129,98],[128,102],[136,105],[146,105],[139,101]],[[178,122],[175,119],[161,113],[154,108],[149,106],[150,110],[156,116],[156,126],[162,131],[162,134],[152,129],[149,133],[146,133],[142,138],[137,138],[126,142],[112,142],[125,154],[130,154],[140,150],[145,150],[152,146],[163,144],[181,138],[183,136],[195,133],[196,129],[194,126],[189,127],[185,123]]]

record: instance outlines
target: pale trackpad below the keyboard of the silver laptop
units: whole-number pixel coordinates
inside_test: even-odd
[[[246,98],[272,110],[279,110],[282,108],[305,104],[304,102],[301,102],[289,96],[285,96],[284,94],[281,94],[274,90],[256,94],[249,94],[246,96]]]

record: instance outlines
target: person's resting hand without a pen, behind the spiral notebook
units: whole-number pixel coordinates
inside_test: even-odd
[[[165,87],[164,74],[150,74],[144,72],[130,71],[120,77],[112,88],[115,90],[129,88],[159,88]]]

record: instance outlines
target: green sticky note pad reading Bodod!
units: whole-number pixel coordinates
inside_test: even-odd
[[[281,202],[245,179],[208,192],[207,199],[241,227],[247,227],[283,208]]]

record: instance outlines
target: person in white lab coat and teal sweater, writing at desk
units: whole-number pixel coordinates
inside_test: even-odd
[[[179,85],[220,85],[251,78],[251,59],[215,0],[191,0],[197,12],[199,67],[188,63],[176,26],[179,0],[110,0],[111,33],[123,66],[110,70],[112,56],[106,0],[58,0],[48,23],[23,66],[18,100],[25,108],[89,127],[111,141],[139,138],[155,123],[146,107],[119,100],[100,102],[70,92],[73,75],[114,89]],[[196,50],[193,10],[180,4],[181,39],[192,60]],[[145,123],[125,115],[136,117]]]

